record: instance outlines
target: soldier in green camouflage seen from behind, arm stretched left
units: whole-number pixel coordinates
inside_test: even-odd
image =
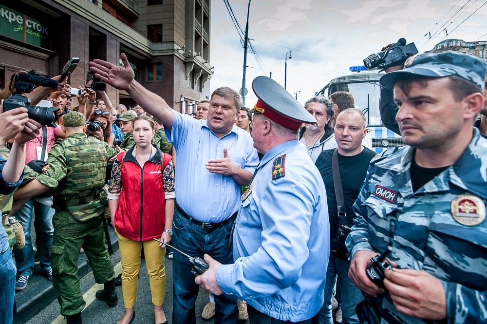
[[[67,323],[81,323],[81,310],[85,306],[76,267],[81,247],[88,256],[96,283],[105,285],[96,293],[96,298],[111,307],[118,300],[102,227],[101,216],[105,208],[99,199],[107,162],[118,150],[94,137],[87,137],[85,124],[83,114],[66,114],[62,127],[68,136],[53,146],[43,173],[14,195],[14,199],[21,202],[39,193],[53,191],[53,208],[56,210],[51,252],[53,286]]]

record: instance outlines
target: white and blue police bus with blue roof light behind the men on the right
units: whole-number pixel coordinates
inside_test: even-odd
[[[385,72],[364,71],[363,69],[365,66],[351,67],[351,71],[359,72],[334,78],[318,92],[318,95],[329,97],[337,91],[351,93],[354,96],[355,107],[365,114],[375,152],[380,153],[390,147],[404,146],[401,136],[385,128],[380,119],[379,79]]]

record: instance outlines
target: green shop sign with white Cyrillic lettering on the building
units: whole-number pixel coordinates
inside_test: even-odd
[[[0,5],[0,34],[39,47],[49,47],[49,30],[45,24],[3,5]]]

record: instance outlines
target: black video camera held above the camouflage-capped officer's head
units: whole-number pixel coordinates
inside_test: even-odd
[[[404,64],[408,57],[418,54],[416,45],[409,43],[406,45],[406,39],[399,38],[397,43],[391,45],[385,51],[369,55],[364,58],[364,65],[367,70],[374,68],[387,69],[390,66]]]

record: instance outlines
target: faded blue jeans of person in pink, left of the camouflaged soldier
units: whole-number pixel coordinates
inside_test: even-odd
[[[53,216],[55,210],[37,202],[29,200],[15,213],[15,217],[22,225],[25,235],[25,246],[14,250],[17,276],[31,276],[34,270],[34,250],[32,248],[31,224],[34,209],[34,228],[36,229],[36,246],[39,254],[40,266],[45,270],[51,267],[51,244],[53,242]]]

